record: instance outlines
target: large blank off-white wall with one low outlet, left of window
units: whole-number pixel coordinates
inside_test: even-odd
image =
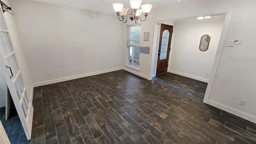
[[[122,23],[115,15],[32,1],[11,4],[37,85],[122,67]]]

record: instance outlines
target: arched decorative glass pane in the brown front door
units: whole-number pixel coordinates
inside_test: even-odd
[[[160,60],[167,58],[168,44],[169,44],[170,32],[169,30],[164,30],[162,35],[162,44],[160,52]]]

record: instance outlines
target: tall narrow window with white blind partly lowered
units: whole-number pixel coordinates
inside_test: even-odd
[[[128,46],[128,65],[139,67],[140,61],[140,24],[127,25],[126,46]]]

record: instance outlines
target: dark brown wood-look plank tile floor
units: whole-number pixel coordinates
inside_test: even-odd
[[[256,124],[204,104],[207,84],[119,70],[34,89],[32,144],[255,144]]]

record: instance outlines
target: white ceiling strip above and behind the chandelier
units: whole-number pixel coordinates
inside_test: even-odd
[[[124,8],[130,8],[129,0],[31,0],[47,4],[55,4],[59,6],[68,6],[72,8],[80,8],[84,10],[92,10],[107,14],[116,14],[112,4],[122,3]],[[177,3],[177,0],[142,0],[142,4],[152,4],[152,9],[160,6]]]

